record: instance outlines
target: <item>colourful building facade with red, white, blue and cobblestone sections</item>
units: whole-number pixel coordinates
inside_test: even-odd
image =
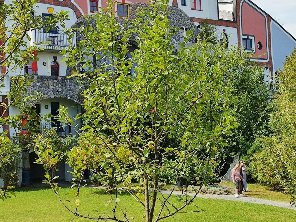
[[[11,0],[5,0],[11,3]],[[133,18],[137,7],[144,7],[145,0],[117,0],[115,4],[115,16],[118,21],[124,18]],[[250,0],[170,0],[170,22],[172,26],[181,27],[176,42],[182,41],[184,31],[194,28],[194,33],[200,32],[200,23],[205,22],[216,25],[217,39],[227,39],[229,46],[237,44],[243,46],[246,51],[253,51],[253,59],[264,69],[264,81],[274,86],[276,82],[276,71],[282,68],[286,56],[292,53],[296,47],[296,39],[290,35],[276,20],[260,9]],[[105,0],[39,0],[36,5],[36,14],[40,14],[46,19],[47,16],[63,11],[69,11],[69,20],[65,21],[65,28],[83,23],[85,14],[92,14],[107,7]],[[34,16],[34,15],[33,15]],[[6,25],[9,25],[9,21]],[[67,78],[71,74],[71,69],[65,65],[64,59],[58,52],[70,44],[75,46],[80,37],[74,35],[71,43],[66,38],[63,28],[55,28],[46,32],[45,29],[34,30],[30,33],[31,40],[28,46],[40,45],[41,51],[36,52],[38,61],[30,61],[28,66],[10,72],[4,80],[4,87],[1,90],[0,102],[7,103],[6,95],[10,91],[10,77],[22,73],[30,74],[34,82],[30,85],[28,93],[42,92],[44,99],[37,106],[40,114],[57,114],[60,105],[68,107],[70,116],[75,116],[81,112],[82,98],[80,95],[81,86],[74,79]],[[1,67],[4,72],[7,67]],[[10,107],[6,116],[18,113],[16,107]],[[54,119],[49,119],[53,121]],[[70,132],[75,134],[75,130],[68,128],[63,123],[54,122],[61,127],[63,135]],[[78,124],[79,125],[79,124]],[[54,125],[48,121],[41,122],[41,128],[51,128]],[[41,130],[42,130],[41,129]],[[4,129],[5,130],[5,129]],[[10,127],[9,134],[12,136],[17,132]],[[33,150],[30,152],[30,162],[33,168],[33,159],[36,157]],[[32,179],[43,177],[38,166],[32,171]],[[32,169],[31,169],[32,170]],[[70,176],[66,171],[69,168],[65,164],[59,171],[60,179],[70,181]],[[20,179],[21,181],[21,179]]]

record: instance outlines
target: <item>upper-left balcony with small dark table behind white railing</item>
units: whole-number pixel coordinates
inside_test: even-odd
[[[70,42],[69,35],[57,30],[55,32],[43,32],[43,30],[34,30],[30,33],[31,45],[37,44],[46,51],[60,51],[68,46],[76,46],[76,33],[74,33]]]

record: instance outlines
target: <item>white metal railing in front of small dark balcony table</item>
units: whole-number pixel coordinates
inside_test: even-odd
[[[63,33],[61,30],[56,32],[43,32],[43,30],[35,30],[35,42],[37,44],[42,44],[45,47],[67,47],[75,46],[75,35],[71,38],[70,43],[68,42],[69,35]]]

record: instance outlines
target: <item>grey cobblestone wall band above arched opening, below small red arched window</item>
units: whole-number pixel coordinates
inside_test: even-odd
[[[31,82],[28,88],[28,95],[34,92],[41,92],[45,99],[66,98],[78,104],[82,103],[81,91],[83,87],[75,78],[65,76],[32,76],[34,82]]]

